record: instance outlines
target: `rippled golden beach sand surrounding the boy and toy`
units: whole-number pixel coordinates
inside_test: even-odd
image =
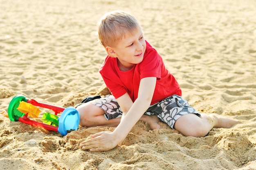
[[[0,114],[0,169],[256,169],[254,0],[0,0],[0,112],[17,94],[61,107],[108,94],[98,73],[106,52],[95,30],[116,9],[139,20],[193,107],[243,123],[196,138],[139,121],[121,145],[95,153],[79,143],[114,128],[61,136]]]

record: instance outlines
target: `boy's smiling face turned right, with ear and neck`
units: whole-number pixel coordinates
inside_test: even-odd
[[[146,42],[141,28],[138,27],[132,33],[125,34],[115,47],[111,47],[114,52],[111,56],[118,58],[118,66],[121,71],[127,71],[135,64],[140,63],[146,51]]]

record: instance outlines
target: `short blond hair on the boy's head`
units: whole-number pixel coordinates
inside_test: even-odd
[[[114,46],[127,33],[139,27],[139,22],[130,13],[112,11],[106,13],[98,22],[98,40],[104,47]]]

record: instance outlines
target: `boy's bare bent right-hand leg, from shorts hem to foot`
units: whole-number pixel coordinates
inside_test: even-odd
[[[185,114],[174,123],[174,128],[184,136],[203,137],[212,128],[231,128],[239,121],[229,119],[218,114]]]

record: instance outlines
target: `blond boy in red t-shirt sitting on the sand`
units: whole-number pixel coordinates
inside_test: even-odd
[[[98,24],[98,38],[108,53],[99,72],[112,95],[79,105],[80,125],[117,128],[91,135],[80,144],[81,149],[115,148],[138,120],[159,129],[160,119],[185,136],[198,137],[212,128],[230,128],[238,123],[218,114],[200,114],[181,97],[179,84],[144,40],[134,16],[123,11],[106,13]]]

